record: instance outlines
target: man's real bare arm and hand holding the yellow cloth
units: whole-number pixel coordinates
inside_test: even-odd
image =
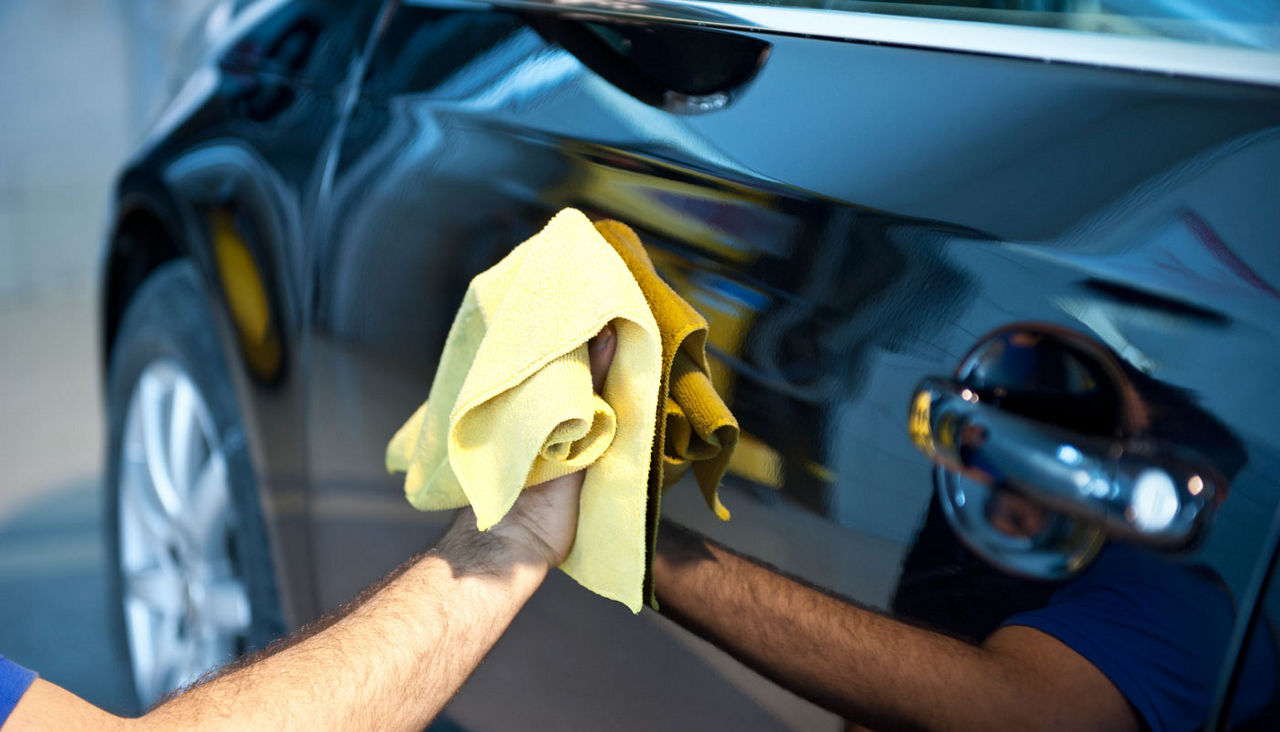
[[[591,339],[600,392],[617,348]],[[465,509],[439,544],[310,630],[140,719],[119,719],[37,678],[13,729],[421,729],[448,704],[577,532],[582,473],[525,489],[477,531]]]

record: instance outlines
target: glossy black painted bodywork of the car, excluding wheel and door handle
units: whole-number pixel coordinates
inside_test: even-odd
[[[383,449],[426,397],[470,278],[564,206],[634,227],[712,322],[717,385],[749,435],[724,488],[733,518],[716,521],[691,485],[668,494],[669,517],[901,610],[902,563],[934,495],[906,433],[913,389],[996,328],[1053,324],[1228,435],[1204,444],[1180,426],[1185,411],[1165,416],[1162,438],[1231,477],[1204,540],[1169,561],[1212,568],[1247,617],[1280,477],[1266,399],[1280,370],[1280,90],[376,5],[252,8],[129,163],[113,237],[128,247],[108,257],[109,338],[146,262],[191,256],[206,273],[293,625],[443,527],[447,516],[403,502]],[[566,38],[585,22],[677,58],[701,44],[750,54],[753,72],[709,111],[671,111],[614,72],[687,69],[645,68],[639,52],[584,63]],[[219,243],[224,212],[237,235]],[[989,630],[1018,609],[1009,587],[1043,601],[1042,585],[946,552],[945,581],[916,591],[937,598],[916,605]],[[1213,630],[1224,677],[1230,631]],[[1197,700],[1204,714],[1215,694]],[[654,613],[631,617],[559,575],[449,714],[468,728],[833,724]]]

